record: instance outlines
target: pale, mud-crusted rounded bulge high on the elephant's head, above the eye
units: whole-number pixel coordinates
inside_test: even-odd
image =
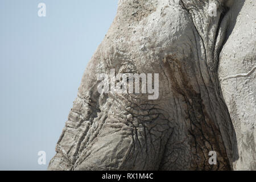
[[[137,61],[143,66],[152,66],[159,65],[168,55],[180,60],[188,57],[191,37],[193,24],[188,14],[180,6],[166,6],[142,20],[130,42],[132,52],[138,52]]]

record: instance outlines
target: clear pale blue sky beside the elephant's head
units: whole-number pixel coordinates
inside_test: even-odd
[[[39,18],[38,4],[46,3]],[[45,170],[118,0],[0,1],[0,170]],[[38,164],[46,151],[47,165]]]

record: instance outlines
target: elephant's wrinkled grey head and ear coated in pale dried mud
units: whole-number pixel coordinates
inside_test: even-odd
[[[256,169],[256,4],[212,2],[119,0],[49,170]],[[98,93],[110,69],[159,73],[159,98]]]

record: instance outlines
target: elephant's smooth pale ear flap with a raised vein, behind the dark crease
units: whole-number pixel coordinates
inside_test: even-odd
[[[255,170],[256,3],[234,1],[230,12],[218,77],[236,131],[233,140],[237,140],[238,151],[233,150],[233,168]]]

